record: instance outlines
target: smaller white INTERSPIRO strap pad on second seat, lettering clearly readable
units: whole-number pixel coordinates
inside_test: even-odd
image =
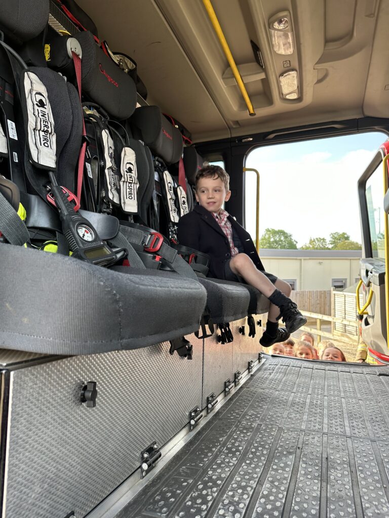
[[[120,203],[124,212],[136,213],[138,210],[138,171],[135,151],[123,148],[120,157]]]

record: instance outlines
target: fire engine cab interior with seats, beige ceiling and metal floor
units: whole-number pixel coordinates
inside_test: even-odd
[[[389,515],[387,143],[353,186],[376,365],[263,354],[268,299],[177,239],[204,161],[244,226],[255,147],[389,134],[388,23],[389,0],[2,2],[3,518]]]

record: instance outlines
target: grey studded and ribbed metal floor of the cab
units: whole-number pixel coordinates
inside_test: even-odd
[[[389,516],[388,376],[267,357],[117,518]]]

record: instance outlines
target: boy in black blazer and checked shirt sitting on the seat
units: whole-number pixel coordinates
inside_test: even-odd
[[[178,240],[210,256],[210,277],[251,284],[270,300],[266,330],[259,340],[270,347],[287,340],[307,320],[288,298],[289,284],[265,271],[250,235],[222,208],[230,196],[227,172],[204,164],[196,175],[199,205],[180,218]],[[285,328],[279,328],[280,318]]]

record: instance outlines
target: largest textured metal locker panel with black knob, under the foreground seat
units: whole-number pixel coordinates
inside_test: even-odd
[[[163,342],[13,372],[3,517],[81,518],[184,427],[202,388],[202,340],[189,339],[191,361]],[[80,402],[88,381],[95,408]]]

